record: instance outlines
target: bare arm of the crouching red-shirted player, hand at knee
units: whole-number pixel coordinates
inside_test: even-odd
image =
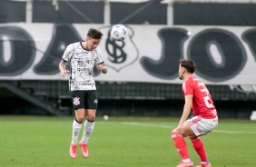
[[[179,125],[177,127],[176,133],[182,135],[182,126],[183,123],[187,120],[188,116],[190,115],[192,110],[192,95],[185,96],[185,104],[183,107],[182,117],[180,119]]]

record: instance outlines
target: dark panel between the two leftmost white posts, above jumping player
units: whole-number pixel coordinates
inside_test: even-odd
[[[103,24],[103,2],[34,1],[34,23]]]

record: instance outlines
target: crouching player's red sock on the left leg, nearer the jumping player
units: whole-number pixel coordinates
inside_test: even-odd
[[[187,149],[187,144],[182,135],[176,135],[176,133],[172,133],[172,141],[177,149],[177,151],[182,156],[182,160],[189,159],[189,152]]]

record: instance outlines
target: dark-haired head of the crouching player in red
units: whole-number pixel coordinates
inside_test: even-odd
[[[195,71],[195,63],[190,59],[180,59],[179,78],[182,80],[187,74],[193,74]]]

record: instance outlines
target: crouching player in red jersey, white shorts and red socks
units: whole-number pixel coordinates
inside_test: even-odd
[[[218,124],[218,116],[207,87],[193,75],[195,67],[196,65],[192,60],[180,60],[179,78],[184,81],[182,92],[185,97],[185,104],[180,123],[172,130],[174,146],[182,157],[182,162],[179,162],[177,167],[193,166],[184,137],[190,138],[194,150],[201,159],[197,167],[211,167],[199,136],[211,133]],[[187,120],[191,110],[194,117]]]

